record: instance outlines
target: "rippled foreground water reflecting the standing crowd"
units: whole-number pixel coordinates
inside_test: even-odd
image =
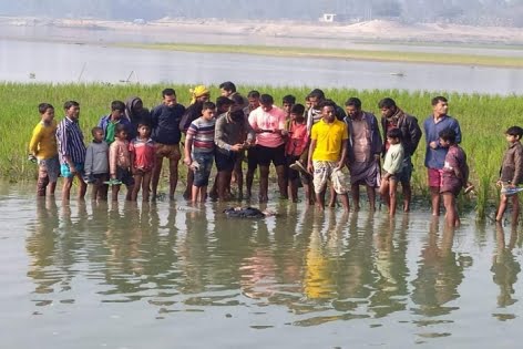
[[[1,348],[514,348],[521,229],[425,211],[278,217],[0,186]],[[442,223],[442,222],[441,222]]]

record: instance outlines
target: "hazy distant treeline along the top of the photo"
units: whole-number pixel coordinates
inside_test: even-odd
[[[523,27],[523,0],[19,0],[1,1],[0,16],[92,17],[117,20],[219,18],[317,21],[397,19]]]

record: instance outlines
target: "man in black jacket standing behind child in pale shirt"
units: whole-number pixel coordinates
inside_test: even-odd
[[[401,131],[401,143],[404,148],[403,168],[399,174],[398,179],[401,183],[403,192],[403,211],[410,211],[410,202],[412,198],[412,189],[410,179],[412,176],[412,160],[418,144],[421,138],[421,129],[418,125],[418,119],[404,113],[394,100],[387,97],[378,103],[381,111],[381,130],[383,132],[383,140],[387,140],[387,132],[391,129],[399,129]],[[389,148],[387,141],[383,142],[383,155]]]

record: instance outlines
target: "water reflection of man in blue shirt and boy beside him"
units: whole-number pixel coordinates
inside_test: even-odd
[[[432,217],[428,242],[421,250],[418,276],[412,281],[412,300],[420,306],[417,311],[425,316],[450,314],[455,308],[445,307],[460,297],[458,287],[463,280],[464,258],[453,250],[454,229],[444,228],[439,235],[439,219]]]

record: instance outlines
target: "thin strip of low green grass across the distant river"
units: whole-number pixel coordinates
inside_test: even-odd
[[[321,58],[361,61],[437,63],[459,65],[484,65],[503,68],[523,68],[523,58],[455,54],[442,52],[439,54],[425,52],[371,51],[349,49],[314,49],[294,47],[265,45],[226,45],[226,44],[193,44],[193,43],[122,43],[117,47],[134,49],[154,49],[164,51],[184,51],[202,53],[245,53],[290,58]]]

